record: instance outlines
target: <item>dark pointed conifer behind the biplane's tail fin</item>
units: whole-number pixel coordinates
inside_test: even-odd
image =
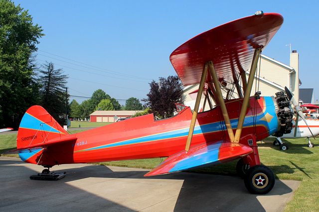
[[[55,69],[53,63],[42,65],[39,83],[41,106],[60,124],[65,123],[66,79],[62,69]]]

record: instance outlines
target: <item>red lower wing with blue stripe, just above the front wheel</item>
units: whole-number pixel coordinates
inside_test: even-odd
[[[253,152],[252,148],[239,143],[220,141],[209,145],[201,144],[190,148],[188,152],[183,150],[169,156],[145,176],[168,174],[205,164],[226,162],[243,157],[251,152]]]

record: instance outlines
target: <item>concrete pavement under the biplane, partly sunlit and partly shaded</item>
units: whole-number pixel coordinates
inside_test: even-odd
[[[70,164],[51,168],[67,172],[59,181],[29,176],[42,166],[0,157],[0,211],[283,211],[299,181],[276,180],[258,196],[239,177],[173,173],[143,177],[145,169]]]

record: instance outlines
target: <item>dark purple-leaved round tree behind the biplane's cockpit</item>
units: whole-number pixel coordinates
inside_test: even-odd
[[[161,117],[173,115],[175,103],[182,104],[183,87],[177,76],[160,77],[160,82],[150,83],[150,92],[147,94],[146,106]]]

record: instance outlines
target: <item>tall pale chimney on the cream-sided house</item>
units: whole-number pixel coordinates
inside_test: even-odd
[[[296,71],[291,74],[291,92],[294,94],[296,101],[299,102],[299,54],[297,50],[290,53],[290,67]]]

